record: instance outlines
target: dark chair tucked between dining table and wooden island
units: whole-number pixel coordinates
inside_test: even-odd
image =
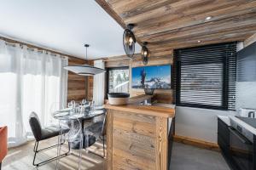
[[[85,127],[84,131],[89,131],[96,136],[102,137],[103,142],[103,158],[105,157],[105,135],[106,135],[106,117],[107,112],[105,111],[103,121],[95,122],[91,124],[89,127]]]

